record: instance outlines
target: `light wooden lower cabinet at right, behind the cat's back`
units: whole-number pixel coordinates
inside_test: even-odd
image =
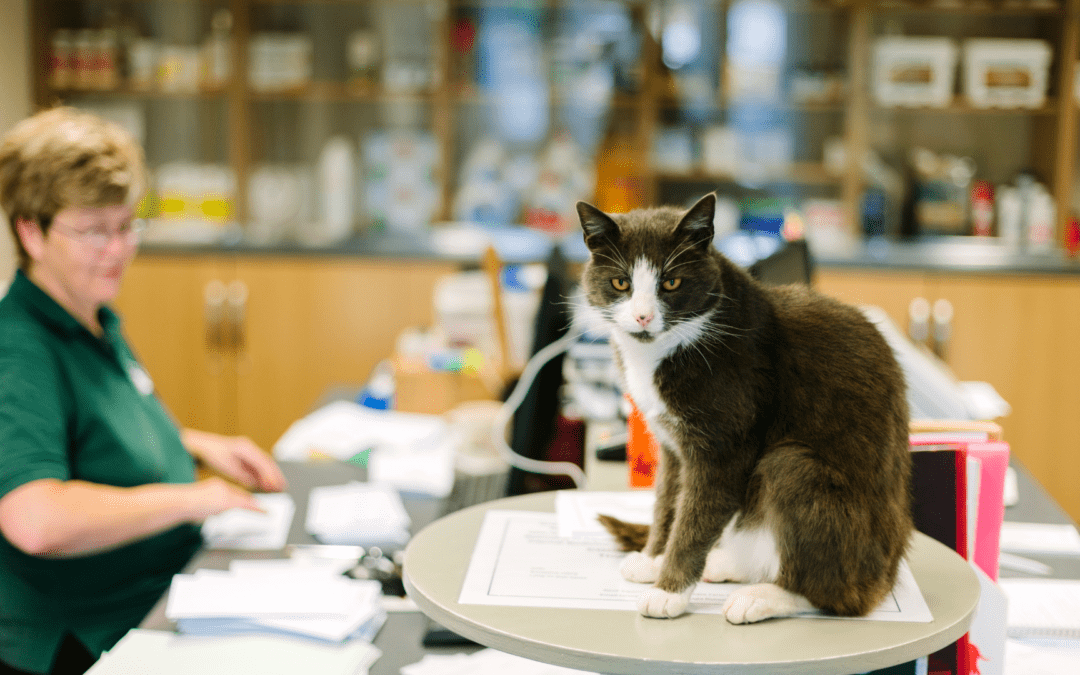
[[[1000,419],[1015,456],[1080,519],[1080,276],[922,271],[820,270],[815,287],[877,305],[902,330],[915,297],[954,308],[947,363],[960,380],[982,380],[1012,406]]]

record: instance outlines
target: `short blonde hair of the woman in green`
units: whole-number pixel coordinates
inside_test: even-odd
[[[146,190],[143,149],[119,124],[75,108],[52,108],[16,124],[0,143],[0,207],[8,214],[18,264],[29,256],[18,220],[48,230],[68,206],[135,204]]]

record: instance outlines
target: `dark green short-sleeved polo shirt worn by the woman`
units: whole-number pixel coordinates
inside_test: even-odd
[[[95,337],[22,272],[0,300],[0,497],[38,478],[190,483],[194,463],[120,333]],[[184,525],[96,555],[46,559],[0,536],[0,660],[45,672],[63,635],[96,654],[137,625],[201,538]]]

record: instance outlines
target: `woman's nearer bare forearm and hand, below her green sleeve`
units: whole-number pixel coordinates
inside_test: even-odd
[[[249,494],[217,477],[138,487],[42,478],[0,499],[0,534],[29,555],[75,557],[232,508],[261,511]]]

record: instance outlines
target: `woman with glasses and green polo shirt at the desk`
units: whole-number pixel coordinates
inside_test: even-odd
[[[0,674],[82,673],[198,550],[198,523],[259,510],[284,477],[246,438],[177,430],[116,299],[135,255],[143,154],[70,108],[0,144],[18,270],[0,300]]]

